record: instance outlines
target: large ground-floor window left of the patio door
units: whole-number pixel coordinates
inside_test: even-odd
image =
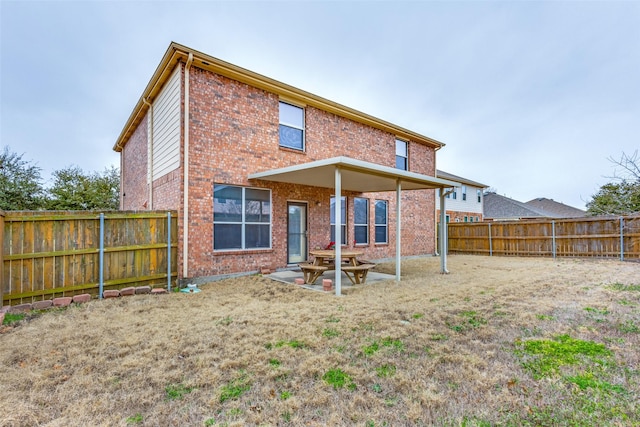
[[[270,247],[270,190],[215,184],[213,187],[213,249]]]

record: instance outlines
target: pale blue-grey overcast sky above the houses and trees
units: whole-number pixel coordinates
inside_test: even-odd
[[[442,141],[437,167],[584,208],[640,147],[640,1],[6,1],[1,145],[119,166],[169,43]]]

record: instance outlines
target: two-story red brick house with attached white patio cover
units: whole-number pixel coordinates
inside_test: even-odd
[[[433,254],[434,189],[459,185],[435,176],[443,145],[171,43],[114,150],[121,208],[178,210],[179,277],[204,281],[330,242]]]

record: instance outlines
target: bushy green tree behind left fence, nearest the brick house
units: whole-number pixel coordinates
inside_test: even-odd
[[[85,173],[78,166],[69,166],[53,173],[53,185],[48,193],[47,209],[116,210],[120,174],[113,166],[102,174]]]

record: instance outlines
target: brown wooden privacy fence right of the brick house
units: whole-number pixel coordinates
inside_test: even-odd
[[[640,215],[450,223],[450,253],[640,260]]]

